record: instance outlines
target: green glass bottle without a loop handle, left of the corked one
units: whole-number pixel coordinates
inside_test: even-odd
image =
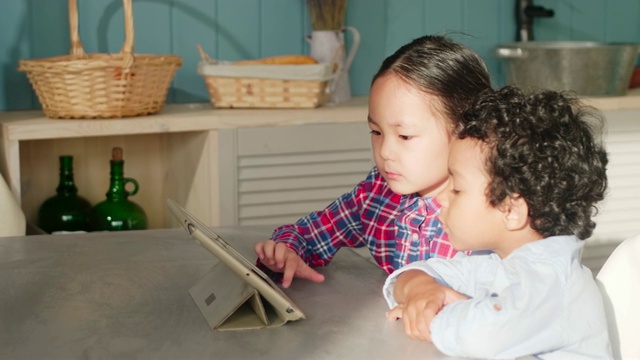
[[[38,227],[48,233],[88,231],[91,204],[78,195],[73,179],[73,156],[60,156],[60,182],[56,195],[46,199],[38,210]]]

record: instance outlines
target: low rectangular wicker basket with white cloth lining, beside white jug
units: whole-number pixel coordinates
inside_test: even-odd
[[[315,108],[327,102],[335,78],[331,64],[238,66],[198,51],[198,72],[216,108]]]

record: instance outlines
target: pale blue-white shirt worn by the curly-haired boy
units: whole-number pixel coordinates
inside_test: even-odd
[[[410,269],[470,297],[445,306],[431,322],[434,345],[451,356],[610,359],[602,296],[580,264],[584,241],[554,236],[528,243],[500,259],[496,254],[429,259],[404,266],[385,282],[393,287]]]

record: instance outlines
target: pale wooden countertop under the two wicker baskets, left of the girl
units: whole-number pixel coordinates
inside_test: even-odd
[[[50,119],[39,110],[0,113],[3,136],[9,141],[74,137],[158,134],[366,121],[367,98],[316,109],[214,109],[211,104],[169,104],[158,114],[122,119]]]

